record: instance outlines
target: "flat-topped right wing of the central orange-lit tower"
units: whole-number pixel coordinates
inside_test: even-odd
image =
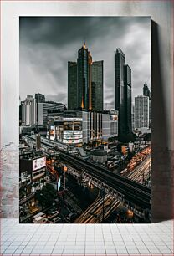
[[[95,105],[92,105],[91,109],[96,112],[103,111],[103,60],[92,63],[92,83],[95,84]]]

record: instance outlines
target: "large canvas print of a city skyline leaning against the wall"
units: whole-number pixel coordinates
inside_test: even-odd
[[[151,17],[20,17],[20,223],[151,223]]]

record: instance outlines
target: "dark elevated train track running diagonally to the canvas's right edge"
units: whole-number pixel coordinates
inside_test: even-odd
[[[69,165],[75,166],[86,172],[92,177],[95,177],[101,182],[101,186],[109,187],[110,190],[119,192],[123,198],[129,202],[136,204],[141,209],[151,209],[151,188],[141,185],[137,182],[131,181],[125,177],[108,171],[107,169],[95,166],[95,164],[79,159],[76,156],[69,156],[69,154],[60,153],[59,157],[68,162]]]

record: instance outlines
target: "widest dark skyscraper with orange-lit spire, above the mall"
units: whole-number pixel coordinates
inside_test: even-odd
[[[68,62],[68,108],[103,110],[103,60],[92,62],[85,44],[78,51],[77,63]]]

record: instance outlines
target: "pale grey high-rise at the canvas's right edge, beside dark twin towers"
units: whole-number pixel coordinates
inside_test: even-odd
[[[136,128],[149,128],[149,97],[137,96],[135,98]]]

